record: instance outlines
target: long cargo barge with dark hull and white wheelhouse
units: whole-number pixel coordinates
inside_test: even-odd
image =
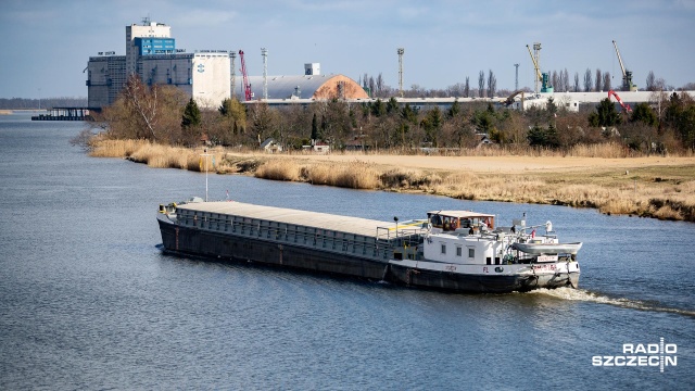
[[[581,243],[559,243],[549,222],[495,228],[494,218],[438,211],[380,222],[201,199],[160,205],[157,214],[168,253],[457,292],[578,286]]]

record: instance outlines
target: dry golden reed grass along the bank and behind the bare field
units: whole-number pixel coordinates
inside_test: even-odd
[[[493,149],[488,152],[509,155],[508,152]],[[126,156],[151,167],[200,172],[201,153],[201,149],[163,147],[142,140],[98,140],[90,155]],[[239,156],[228,154],[223,149],[213,149],[210,153],[217,163],[211,171],[217,173],[253,173],[258,178],[274,180],[307,181],[353,189],[421,191],[467,200],[595,207],[606,214],[695,222],[695,171],[688,166],[675,167],[669,172],[671,177],[665,175],[667,168],[664,167],[654,168],[655,173],[645,172],[632,177],[628,177],[626,172],[605,174],[605,169],[602,172],[601,168],[572,174],[483,175],[451,169],[394,168],[359,161],[303,160],[300,155]],[[628,155],[619,144],[576,147],[570,154],[604,159]]]

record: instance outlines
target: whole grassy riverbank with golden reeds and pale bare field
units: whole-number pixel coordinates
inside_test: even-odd
[[[92,156],[200,171],[202,150],[147,141],[99,141]],[[606,214],[695,222],[695,157],[630,157],[604,146],[534,156],[280,154],[211,150],[218,174],[247,174],[354,189],[425,192],[465,200],[594,207]]]

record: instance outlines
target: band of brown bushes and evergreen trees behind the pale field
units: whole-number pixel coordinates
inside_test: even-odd
[[[308,105],[269,106],[225,100],[201,110],[170,86],[147,86],[131,77],[94,127],[115,139],[164,144],[257,148],[274,138],[287,149],[325,142],[333,150],[418,151],[476,148],[483,139],[502,147],[569,149],[619,142],[643,153],[695,150],[695,102],[687,93],[654,92],[654,103],[619,112],[604,99],[595,109],[570,113],[548,100],[544,109],[500,110],[491,102],[418,110],[394,98],[354,103],[338,98]]]

